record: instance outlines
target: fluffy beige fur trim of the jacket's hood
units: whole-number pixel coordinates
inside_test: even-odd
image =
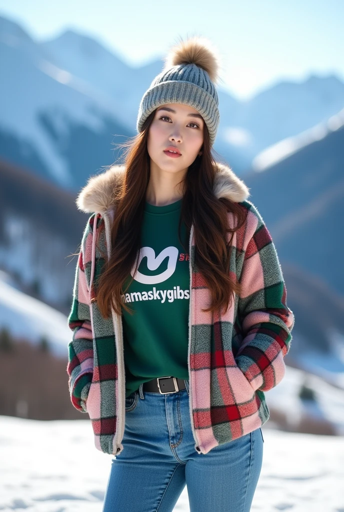
[[[124,176],[125,165],[112,165],[105,173],[91,176],[88,183],[81,189],[76,205],[86,214],[99,212],[101,215],[114,206],[115,194]],[[216,163],[214,194],[225,197],[235,203],[245,201],[249,196],[249,188],[238,178],[232,169],[222,163]]]

